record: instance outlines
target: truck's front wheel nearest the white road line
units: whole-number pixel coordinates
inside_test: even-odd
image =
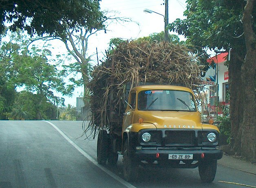
[[[135,181],[138,176],[138,165],[132,156],[128,139],[124,144],[123,172],[126,181]]]

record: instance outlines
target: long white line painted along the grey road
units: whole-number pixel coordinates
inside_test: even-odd
[[[133,186],[132,184],[128,183],[127,181],[124,181],[124,179],[122,179],[121,177],[117,176],[115,173],[109,171],[104,166],[99,165],[98,162],[93,159],[93,157],[88,155],[84,150],[82,150],[79,146],[77,146],[77,144],[75,144],[75,142],[73,142],[70,138],[68,138],[65,135],[65,133],[63,133],[56,125],[54,125],[53,123],[51,123],[49,121],[46,121],[46,120],[43,120],[43,121],[45,121],[45,122],[49,123],[51,126],[53,126],[54,129],[56,129],[72,146],[75,147],[75,149],[77,149],[80,153],[82,153],[82,155],[84,155],[84,157],[86,157],[90,162],[92,162],[97,167],[99,167],[102,171],[104,171],[105,173],[107,173],[108,175],[110,175],[111,177],[116,179],[117,181],[119,181],[124,186],[126,186],[128,188],[136,188],[135,186]]]

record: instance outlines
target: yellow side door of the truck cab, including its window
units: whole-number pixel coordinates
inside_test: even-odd
[[[130,98],[128,99],[128,105],[126,112],[124,113],[123,130],[126,129],[133,122],[133,115],[136,108],[136,92],[130,93]]]

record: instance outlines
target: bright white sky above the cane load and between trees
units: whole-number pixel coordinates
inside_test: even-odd
[[[186,9],[186,0],[169,0],[169,23],[177,18],[184,19],[183,11]],[[101,11],[117,11],[118,17],[129,17],[133,22],[125,22],[121,24],[112,24],[108,27],[106,33],[98,33],[90,37],[88,42],[88,54],[95,54],[96,47],[98,50],[99,59],[104,57],[104,52],[108,49],[110,39],[137,39],[139,37],[146,37],[152,33],[159,33],[164,30],[164,18],[156,13],[144,13],[144,9],[150,9],[154,12],[165,14],[164,0],[102,0],[100,2]],[[185,40],[184,37],[180,37]],[[53,44],[53,48],[59,52],[66,51],[64,44]],[[94,56],[93,63],[97,64],[96,56]],[[80,75],[75,75],[79,77]],[[65,98],[65,105],[71,104],[76,106],[76,98],[81,97],[83,93],[82,88],[76,88],[72,97],[60,96]]]

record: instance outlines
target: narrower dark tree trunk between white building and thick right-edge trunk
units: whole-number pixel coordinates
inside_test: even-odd
[[[241,87],[241,66],[243,61],[238,51],[232,49],[231,59],[228,67],[230,88],[230,121],[231,121],[231,143],[233,151],[241,154],[241,123],[243,121],[243,92]]]

